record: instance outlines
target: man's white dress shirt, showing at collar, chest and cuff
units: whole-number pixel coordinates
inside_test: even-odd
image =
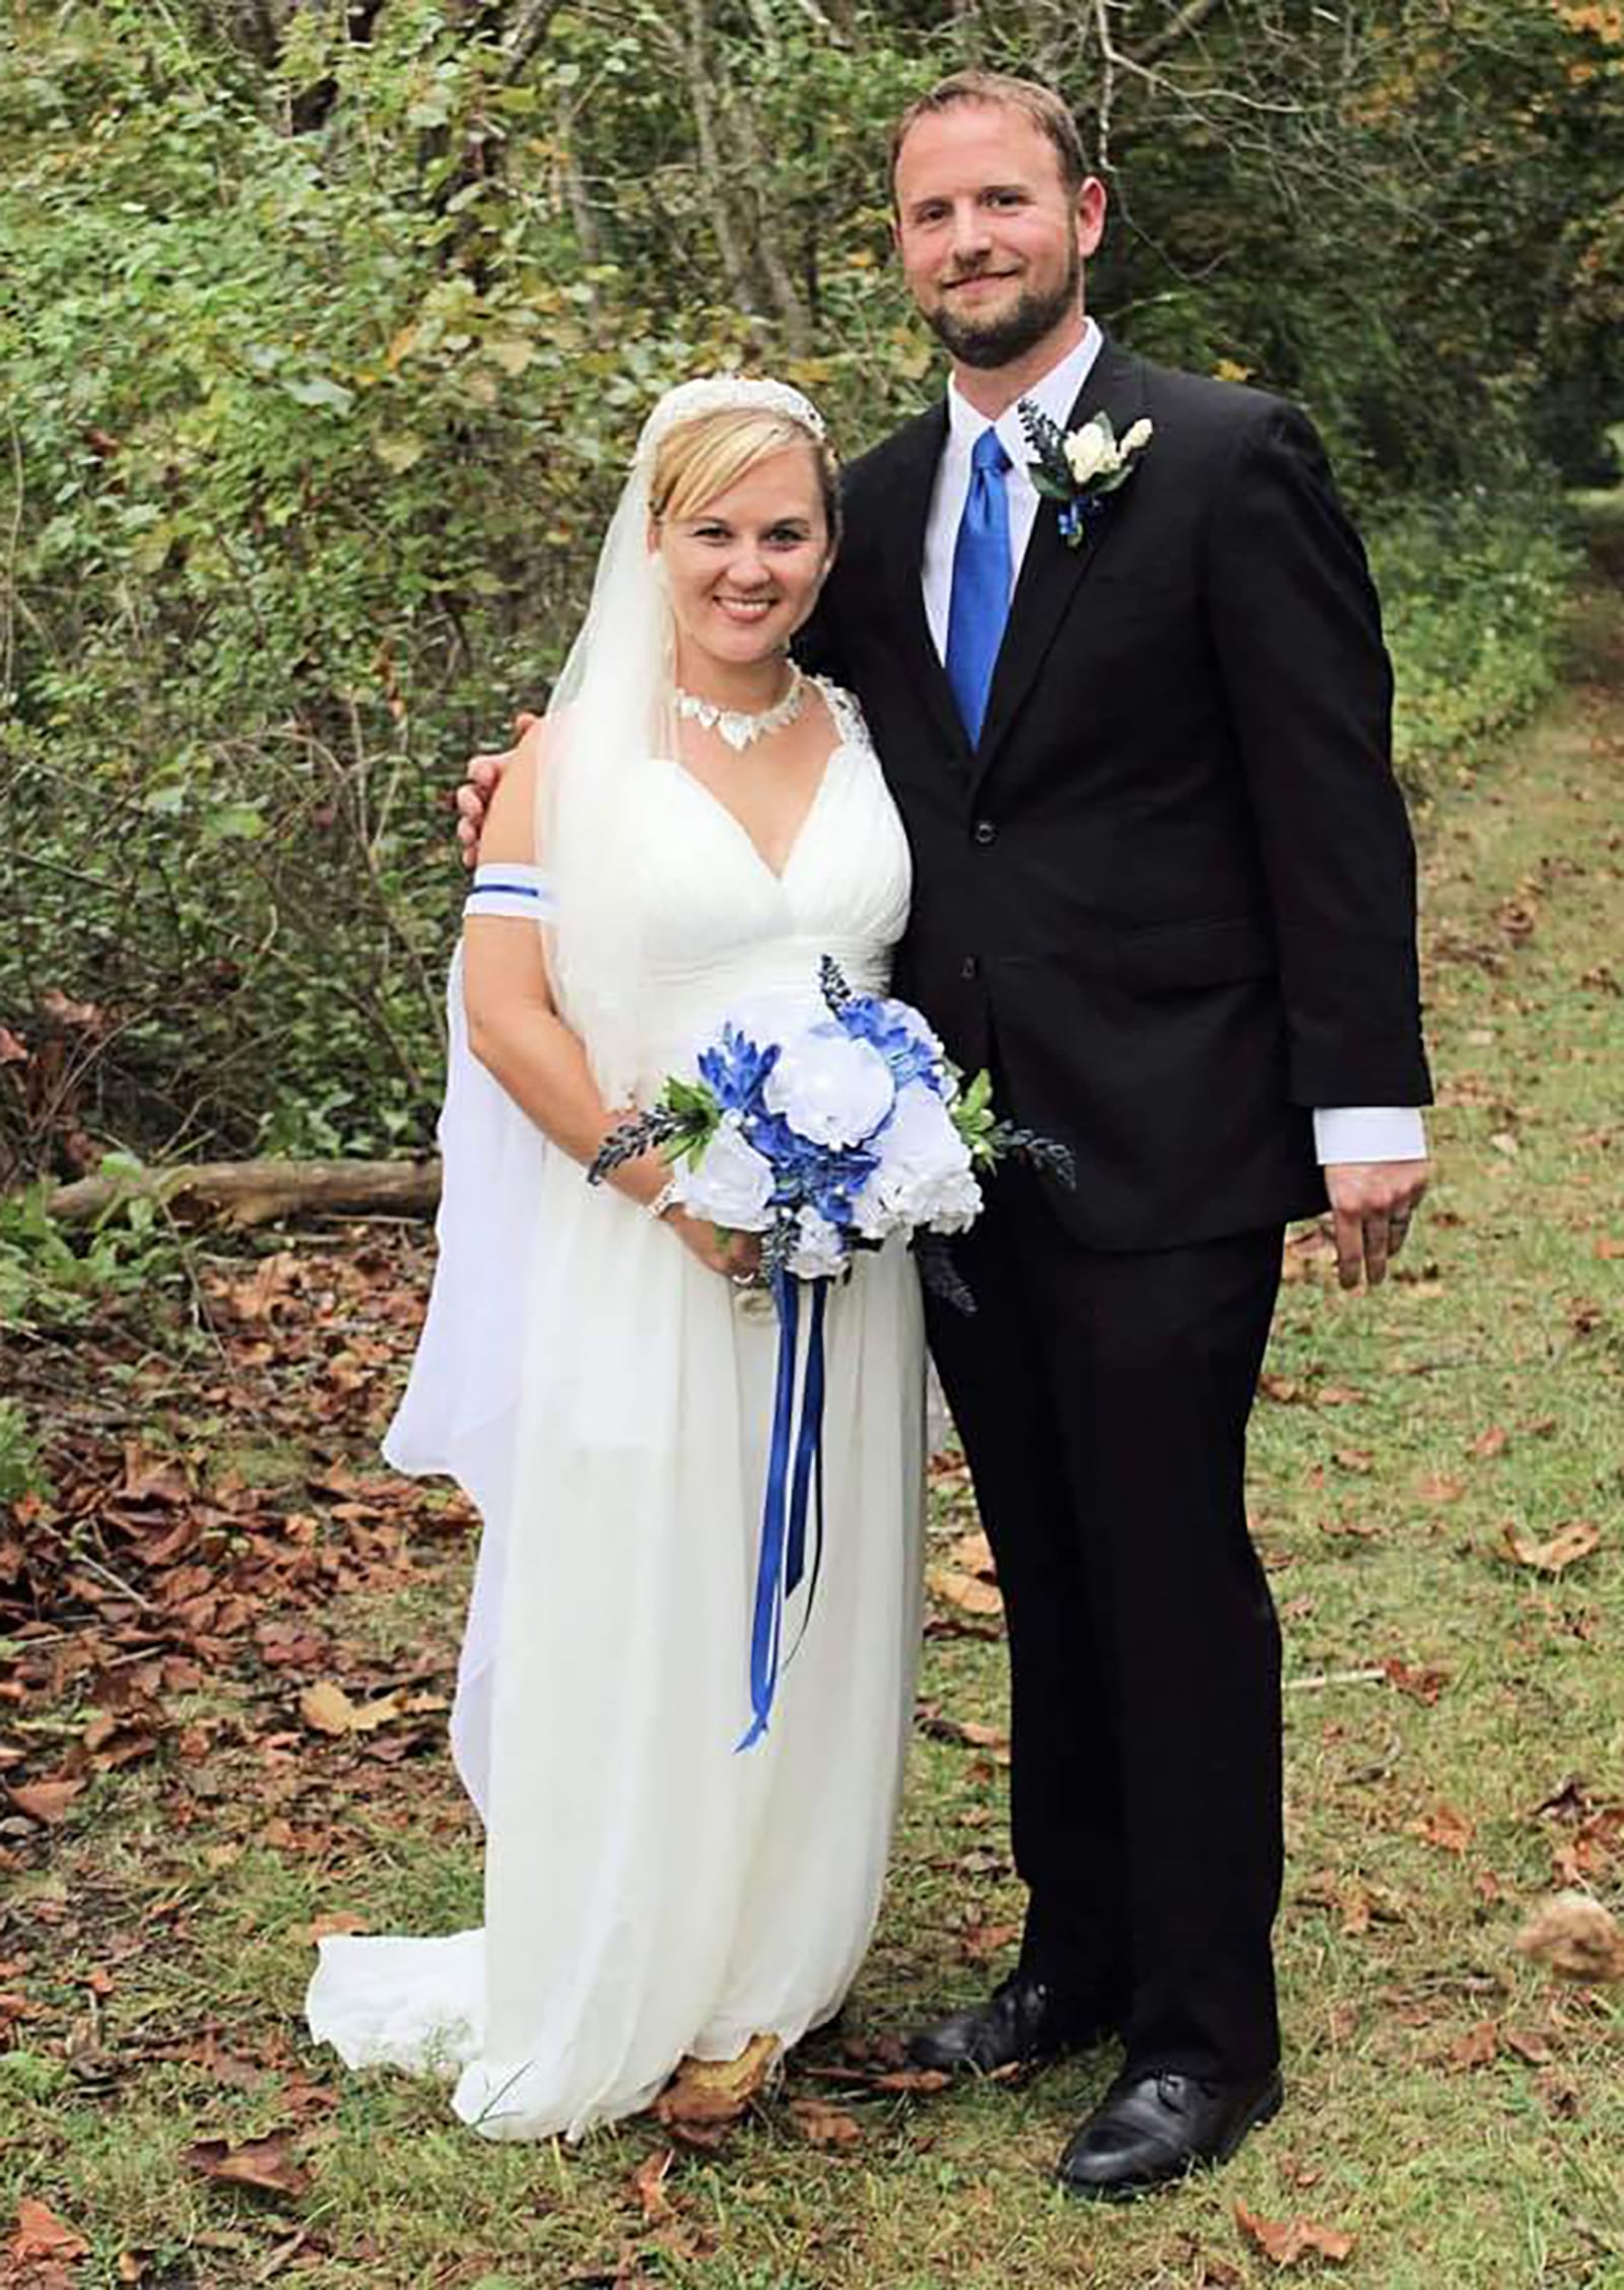
[[[1086,318],[1082,341],[1027,389],[1027,398],[1061,428],[1066,428],[1089,369],[1100,355],[1102,339],[1093,318]],[[954,547],[970,492],[970,453],[986,426],[986,414],[979,414],[958,392],[958,385],[949,380],[947,444],[936,465],[931,513],[924,522],[924,561],[920,566],[924,616],[931,623],[931,641],[940,660],[947,660]],[[1009,453],[1004,497],[1009,502],[1009,593],[1013,595],[1043,502],[1027,476],[1027,433],[1020,426],[1016,408],[1006,405],[993,426]],[[1427,1154],[1427,1129],[1416,1106],[1317,1106],[1313,1115],[1313,1145],[1322,1166],[1329,1161],[1423,1161]]]

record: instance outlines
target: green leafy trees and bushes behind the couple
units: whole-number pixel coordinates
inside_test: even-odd
[[[659,387],[771,366],[849,451],[936,387],[885,144],[942,69],[1066,89],[1093,305],[1299,394],[1363,508],[1594,472],[1617,410],[1606,9],[1260,0],[1137,73],[1089,9],[913,0],[0,25],[0,1182],[428,1143],[457,765],[544,694]]]

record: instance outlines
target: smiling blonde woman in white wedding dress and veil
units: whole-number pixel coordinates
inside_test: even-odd
[[[739,1750],[778,1344],[755,1243],[686,1216],[654,1154],[583,1170],[725,1019],[812,1003],[821,955],[885,985],[903,831],[855,705],[787,657],[835,545],[798,392],[659,401],[453,966],[441,1257],[387,1454],[483,1511],[453,1750],[485,1926],[325,1940],[307,2015],[350,2066],[453,2072],[494,2139],[794,2045],[878,1910],[920,1621],[913,1264],[887,1243],[830,1296],[826,1557]]]

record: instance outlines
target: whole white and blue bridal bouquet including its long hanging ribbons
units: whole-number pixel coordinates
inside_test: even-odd
[[[965,1083],[903,1001],[853,994],[823,957],[823,1010],[723,1026],[698,1076],[672,1076],[652,1111],[622,1122],[588,1170],[595,1184],[659,1147],[677,1200],[727,1232],[762,1234],[762,1285],[778,1312],[778,1395],[750,1626],[753,1747],[780,1672],[785,1608],[823,1548],[823,1308],[860,1248],[908,1234],[924,1280],[974,1310],[947,1237],[981,1211],[981,1175],[1020,1154],[1070,1184],[1064,1145],[995,1115],[986,1074]],[[782,1005],[780,1005],[782,1012]],[[803,1328],[805,1301],[805,1347]],[[810,1557],[807,1557],[810,1550]]]

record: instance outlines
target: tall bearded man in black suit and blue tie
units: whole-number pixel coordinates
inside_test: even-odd
[[[1288,1218],[1329,1198],[1356,1287],[1425,1186],[1414,852],[1377,600],[1308,421],[1084,316],[1105,190],[1045,87],[958,73],[892,160],[952,382],[851,467],[805,657],[860,696],[908,827],[897,992],[1077,1163],[1075,1191],[1000,1175],[956,1243],[979,1310],[931,1317],[1009,1617],[1029,1905],[1016,1972],[910,2050],[993,2072],[1119,2034],[1059,2173],[1121,2196],[1281,2102],[1244,1436]],[[1075,547],[1022,398],[1151,424]]]

